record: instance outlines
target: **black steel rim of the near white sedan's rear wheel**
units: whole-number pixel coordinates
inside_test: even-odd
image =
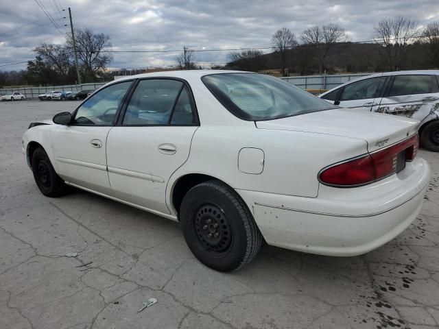
[[[195,212],[195,230],[198,241],[209,252],[226,252],[232,242],[229,221],[217,206],[204,204]]]

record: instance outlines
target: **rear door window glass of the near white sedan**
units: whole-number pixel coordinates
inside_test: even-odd
[[[177,80],[141,80],[132,94],[123,125],[191,125],[195,115],[185,85]]]

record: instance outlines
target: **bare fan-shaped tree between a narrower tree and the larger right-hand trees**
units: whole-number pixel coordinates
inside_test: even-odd
[[[312,47],[312,52],[318,62],[319,73],[323,72],[326,60],[331,55],[333,45],[337,42],[348,40],[344,29],[335,24],[328,24],[322,27],[315,25],[305,29],[300,38],[305,46]]]

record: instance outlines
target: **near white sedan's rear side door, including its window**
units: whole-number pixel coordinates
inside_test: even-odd
[[[167,182],[189,157],[198,125],[187,83],[140,80],[123,117],[108,134],[108,177],[115,197],[169,214]]]

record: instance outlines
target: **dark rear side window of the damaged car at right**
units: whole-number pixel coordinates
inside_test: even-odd
[[[434,75],[396,75],[389,97],[438,93],[438,89]]]

